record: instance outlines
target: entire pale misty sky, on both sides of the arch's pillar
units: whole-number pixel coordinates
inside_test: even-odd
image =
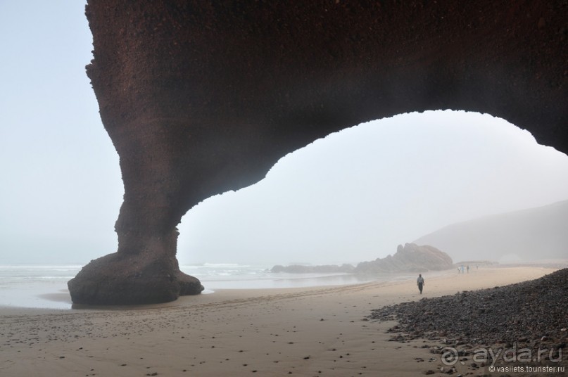
[[[84,73],[84,4],[0,1],[0,36],[0,264],[113,253],[123,188]],[[398,115],[316,141],[259,184],[200,203],[179,225],[178,257],[356,263],[453,222],[567,199],[568,156],[505,120]]]

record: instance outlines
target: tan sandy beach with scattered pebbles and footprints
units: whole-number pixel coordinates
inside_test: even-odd
[[[423,295],[415,281],[396,281],[222,290],[135,309],[4,307],[0,376],[420,376],[439,364],[423,341],[389,342],[394,322],[365,321],[371,309],[552,271],[424,274]]]

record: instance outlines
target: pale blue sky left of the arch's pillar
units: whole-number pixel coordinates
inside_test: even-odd
[[[84,4],[0,1],[0,36],[0,264],[115,251],[122,182],[84,72]]]

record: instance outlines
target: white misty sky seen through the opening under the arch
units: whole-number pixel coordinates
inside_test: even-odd
[[[282,158],[182,220],[179,259],[357,263],[454,222],[568,198],[568,157],[505,120],[397,115]]]

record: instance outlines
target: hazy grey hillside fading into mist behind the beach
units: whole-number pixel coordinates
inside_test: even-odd
[[[568,258],[568,200],[446,226],[413,241],[461,260]]]

